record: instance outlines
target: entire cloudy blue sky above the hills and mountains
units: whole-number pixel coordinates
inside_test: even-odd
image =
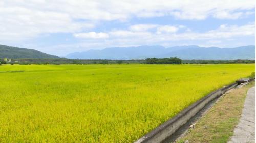
[[[139,45],[255,45],[254,0],[1,0],[0,44],[66,56]]]

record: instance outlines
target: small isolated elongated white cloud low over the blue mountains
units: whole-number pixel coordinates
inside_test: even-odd
[[[87,32],[87,33],[75,33],[73,34],[77,38],[84,38],[84,39],[104,39],[109,38],[109,35],[107,33],[103,32]]]

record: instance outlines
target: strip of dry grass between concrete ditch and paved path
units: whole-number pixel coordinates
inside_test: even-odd
[[[189,129],[187,134],[178,139],[178,143],[185,142],[227,142],[233,135],[234,127],[239,122],[247,91],[253,87],[251,82],[244,87],[235,89],[223,95],[215,105],[205,113],[195,124],[194,129]]]

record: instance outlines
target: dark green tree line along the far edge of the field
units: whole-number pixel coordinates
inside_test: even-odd
[[[179,58],[147,58],[135,60],[109,60],[109,59],[8,59],[0,58],[0,64],[236,64],[255,63],[255,60],[181,60]]]

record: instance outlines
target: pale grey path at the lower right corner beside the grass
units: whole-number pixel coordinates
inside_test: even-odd
[[[242,117],[228,143],[255,142],[255,87],[248,90]]]

